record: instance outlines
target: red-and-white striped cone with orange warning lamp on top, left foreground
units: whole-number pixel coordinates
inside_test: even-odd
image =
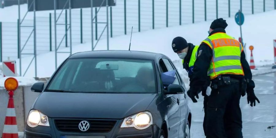
[[[5,118],[2,138],[18,138],[18,128],[16,123],[16,115],[13,102],[14,90],[18,87],[18,82],[14,78],[8,78],[5,81],[5,88],[9,91],[9,102]]]

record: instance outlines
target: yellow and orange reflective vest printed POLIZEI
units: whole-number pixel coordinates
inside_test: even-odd
[[[208,75],[215,79],[222,74],[244,75],[240,63],[243,46],[226,33],[214,33],[202,41],[213,50]]]

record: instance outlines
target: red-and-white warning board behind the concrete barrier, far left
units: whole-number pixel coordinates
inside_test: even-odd
[[[16,77],[16,62],[15,61],[3,61],[3,75],[4,77]]]

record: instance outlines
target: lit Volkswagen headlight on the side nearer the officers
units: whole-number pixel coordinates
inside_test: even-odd
[[[121,128],[131,128],[142,130],[152,125],[152,116],[150,112],[137,113],[131,117],[126,117]]]

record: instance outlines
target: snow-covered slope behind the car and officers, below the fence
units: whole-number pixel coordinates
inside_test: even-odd
[[[250,59],[249,45],[254,45],[253,56],[255,65],[273,64],[273,39],[275,39],[276,11],[247,15],[243,25],[243,39],[247,43],[247,59]],[[258,20],[256,20],[258,19]],[[234,18],[226,18],[228,27],[227,33],[235,38],[240,36],[239,26]],[[265,21],[265,22],[264,22]],[[167,55],[172,60],[179,60],[177,54],[171,49],[171,41],[176,36],[183,36],[188,42],[195,45],[201,43],[208,36],[208,29],[212,21],[175,26],[163,29],[154,29],[140,33],[133,33],[131,50],[156,52]],[[257,27],[257,26],[266,27]],[[110,50],[128,50],[130,35],[113,37],[109,41]],[[106,40],[100,40],[95,50],[106,50]],[[91,43],[73,45],[72,53],[90,51]],[[60,48],[59,51],[69,51],[69,48]],[[58,54],[58,65],[66,59],[68,54]],[[22,72],[28,67],[32,57],[22,59]],[[19,61],[17,61],[19,63]],[[17,67],[19,65],[17,64]],[[55,71],[55,53],[49,52],[37,56],[38,77],[49,77]],[[19,72],[17,70],[17,72]],[[27,71],[28,77],[34,77],[34,64]]]

